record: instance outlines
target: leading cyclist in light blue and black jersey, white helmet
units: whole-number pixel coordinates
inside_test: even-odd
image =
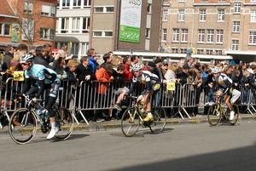
[[[57,92],[60,86],[60,79],[56,77],[56,72],[46,68],[45,66],[33,64],[33,55],[24,54],[20,57],[20,65],[24,71],[25,81],[22,89],[22,94],[28,90],[29,97],[32,98],[33,94],[36,94],[32,98],[34,102],[44,93],[44,90],[50,88],[49,97],[45,101],[45,108],[49,112],[49,123],[51,124],[51,130],[47,136],[47,139],[51,139],[59,131],[59,128],[55,126],[55,113],[51,108],[55,104]],[[31,82],[36,83],[31,87]]]

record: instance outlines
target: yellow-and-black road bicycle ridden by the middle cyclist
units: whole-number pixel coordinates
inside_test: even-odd
[[[143,128],[149,128],[152,133],[159,134],[166,126],[166,111],[161,106],[151,107],[151,113],[154,120],[143,122],[143,118],[147,114],[143,113],[139,104],[137,104],[137,97],[127,96],[132,99],[131,107],[128,107],[121,118],[121,129],[126,137],[131,137],[137,133],[140,125]]]

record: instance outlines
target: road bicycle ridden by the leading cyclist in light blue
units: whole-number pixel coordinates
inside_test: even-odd
[[[9,135],[17,144],[22,145],[30,142],[38,129],[44,134],[49,133],[51,125],[47,112],[39,115],[32,100],[26,94],[20,97],[25,100],[26,108],[18,109],[10,117]],[[73,115],[67,108],[59,107],[56,103],[52,107],[55,112],[56,127],[59,128],[54,139],[67,140],[73,132]],[[41,125],[39,128],[38,123]]]

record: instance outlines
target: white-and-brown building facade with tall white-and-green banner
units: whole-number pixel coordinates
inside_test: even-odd
[[[67,45],[78,59],[89,48],[158,52],[161,9],[153,0],[59,0],[55,47]]]

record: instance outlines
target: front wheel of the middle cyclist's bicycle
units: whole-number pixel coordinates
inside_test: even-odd
[[[140,115],[137,112],[136,107],[128,108],[121,118],[121,129],[126,137],[131,137],[137,133],[137,129],[140,126]]]

